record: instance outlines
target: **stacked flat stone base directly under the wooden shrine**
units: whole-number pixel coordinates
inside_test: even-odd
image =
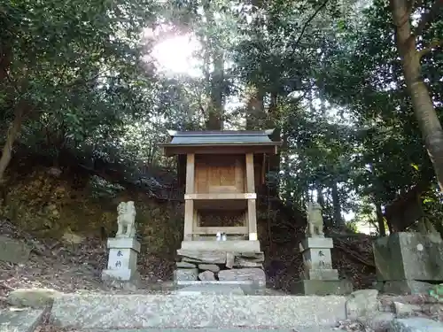
[[[263,252],[177,251],[175,282],[251,282],[266,285]]]

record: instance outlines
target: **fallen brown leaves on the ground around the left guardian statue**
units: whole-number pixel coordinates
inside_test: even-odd
[[[18,239],[32,248],[26,264],[0,261],[1,298],[20,288],[47,288],[65,293],[79,290],[105,290],[101,272],[107,264],[105,243],[97,237],[86,237],[82,243],[57,239],[36,239],[21,232],[7,220],[0,221],[0,234]],[[172,275],[174,262],[158,255],[142,253],[138,269],[143,283],[165,281]]]

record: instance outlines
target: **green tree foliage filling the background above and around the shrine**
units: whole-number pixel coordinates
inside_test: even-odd
[[[423,8],[417,12],[429,4],[418,4]],[[303,211],[318,199],[336,226],[343,226],[347,212],[375,223],[375,205],[432,179],[433,171],[405,87],[388,2],[365,5],[6,1],[0,14],[0,137],[4,141],[19,119],[20,147],[54,164],[66,151],[84,165],[102,160],[132,179],[174,162],[158,148],[166,129],[202,129],[220,112],[225,128],[277,128],[275,138],[284,145],[267,179],[286,203]],[[160,23],[169,26],[157,40],[142,37]],[[177,34],[200,42],[195,58],[201,77],[166,76],[144,57],[154,42]],[[436,20],[423,43],[441,35]],[[442,61],[441,51],[422,61],[439,115]],[[228,107],[236,99],[245,103]],[[97,196],[114,195],[112,188],[94,186]],[[423,198],[428,217],[440,223],[439,194],[430,186]]]

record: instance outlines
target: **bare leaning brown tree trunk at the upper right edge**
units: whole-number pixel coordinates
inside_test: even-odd
[[[416,36],[411,31],[409,3],[407,0],[391,0],[397,48],[400,53],[403,74],[411,97],[412,107],[424,136],[424,145],[431,158],[440,190],[443,191],[443,129],[432,104],[429,91],[421,76],[421,52],[416,50]]]

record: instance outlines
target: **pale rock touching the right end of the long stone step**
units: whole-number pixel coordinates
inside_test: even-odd
[[[355,290],[346,300],[346,318],[356,320],[377,312],[378,290]]]

